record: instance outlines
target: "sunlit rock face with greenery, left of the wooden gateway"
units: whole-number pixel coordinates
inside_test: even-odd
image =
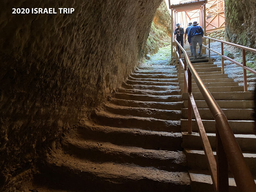
[[[156,10],[154,20],[151,24],[151,29],[144,51],[145,54],[155,54],[159,47],[170,44],[171,33],[171,15],[165,1],[163,1]]]

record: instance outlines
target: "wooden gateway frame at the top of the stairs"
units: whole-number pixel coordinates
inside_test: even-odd
[[[193,11],[193,10],[199,10],[199,25],[206,31],[206,6],[205,4],[207,3],[207,0],[185,0],[181,1],[180,4],[176,5],[171,5],[171,1],[169,0],[169,9],[171,9],[171,16],[172,16],[172,42],[171,46],[173,47],[174,45],[174,30],[175,26],[178,20],[178,12],[188,12],[188,11]],[[185,17],[186,18],[186,17]],[[183,20],[183,19],[182,19]],[[190,21],[190,20],[189,20]],[[188,20],[185,19],[185,22],[188,24]],[[184,20],[183,20],[184,22]],[[187,26],[183,25],[183,27]],[[206,44],[206,40],[204,39],[204,45]],[[206,54],[206,49],[202,50],[204,54]],[[172,57],[174,56],[174,52],[172,49]]]

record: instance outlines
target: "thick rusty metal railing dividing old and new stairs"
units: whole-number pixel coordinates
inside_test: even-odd
[[[211,38],[212,39],[212,38]],[[181,65],[184,69],[184,92],[188,89],[188,134],[192,133],[192,110],[195,115],[198,132],[203,143],[204,154],[208,161],[209,171],[212,177],[213,188],[215,191],[228,191],[228,165],[234,176],[236,186],[239,191],[256,191],[256,185],[252,178],[252,174],[245,164],[243,153],[236,142],[235,135],[228,124],[227,117],[213,98],[212,94],[204,85],[202,79],[197,74],[187,52],[176,42],[176,62],[179,57],[179,74],[181,74]],[[224,42],[223,42],[224,43]],[[228,43],[228,42],[227,42]],[[180,47],[177,52],[178,46]],[[243,48],[244,49],[244,48]],[[248,48],[251,49],[251,48]],[[180,52],[184,52],[184,63],[181,59]],[[211,50],[212,51],[212,50]],[[256,51],[256,50],[255,50]],[[223,57],[223,54],[222,54]],[[228,57],[225,56],[225,59]],[[188,66],[188,72],[187,72]],[[247,68],[245,68],[247,69]],[[247,69],[248,70],[248,69]],[[206,104],[208,105],[212,116],[216,122],[216,155],[217,162],[214,158],[210,142],[208,140],[202,119],[199,115],[196,102],[192,94],[192,76],[202,93]]]

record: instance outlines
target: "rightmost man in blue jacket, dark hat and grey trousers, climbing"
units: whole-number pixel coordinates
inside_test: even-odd
[[[196,59],[196,45],[199,44],[198,56],[202,57],[202,47],[203,47],[203,39],[204,30],[202,27],[198,26],[199,23],[196,21],[193,22],[193,27],[190,28],[188,32],[188,43],[192,44],[193,47],[193,59]]]

